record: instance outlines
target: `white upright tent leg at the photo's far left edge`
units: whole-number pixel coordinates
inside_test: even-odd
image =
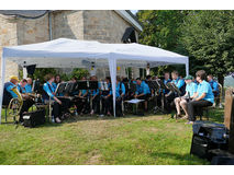
[[[5,73],[5,58],[3,56],[4,49],[2,49],[1,57],[1,86],[0,86],[0,124],[1,124],[1,110],[3,101],[3,90],[4,90],[4,73]]]

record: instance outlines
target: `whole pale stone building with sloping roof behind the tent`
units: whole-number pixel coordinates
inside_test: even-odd
[[[0,11],[0,54],[4,46],[41,43],[60,37],[123,43],[133,34],[135,38],[132,42],[137,42],[141,31],[141,24],[125,10]],[[7,80],[11,74],[18,74],[19,69],[18,65],[7,61]],[[69,72],[69,69],[64,71]],[[109,74],[109,70],[97,69],[96,73],[103,78]],[[123,68],[118,73],[126,74]],[[133,75],[138,74],[138,69],[133,69]]]

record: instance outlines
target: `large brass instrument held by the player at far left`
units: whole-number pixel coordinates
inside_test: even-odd
[[[8,116],[12,116],[15,120],[15,117],[20,114],[21,108],[23,106],[23,97],[19,92],[18,88],[14,86],[11,89],[16,95],[16,98],[12,98],[8,105]]]

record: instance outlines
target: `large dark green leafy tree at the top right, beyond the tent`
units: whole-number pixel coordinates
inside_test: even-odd
[[[234,70],[234,11],[191,11],[181,26],[180,44],[190,72],[204,69],[219,78]]]

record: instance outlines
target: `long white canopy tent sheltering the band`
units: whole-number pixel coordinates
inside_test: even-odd
[[[186,65],[189,59],[171,51],[141,44],[101,44],[93,40],[59,38],[51,42],[3,47],[1,59],[0,117],[2,109],[5,60],[20,66],[36,65],[36,68],[87,68],[109,67],[113,91],[115,114],[116,66],[146,68],[165,65]],[[1,121],[1,118],[0,118]]]

